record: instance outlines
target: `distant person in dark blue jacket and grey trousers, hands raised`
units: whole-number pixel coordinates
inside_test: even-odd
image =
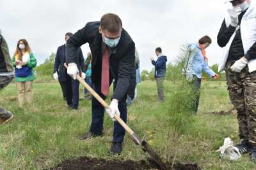
[[[153,57],[150,58],[152,64],[155,66],[155,78],[157,85],[158,101],[164,101],[164,76],[166,74],[166,62],[167,57],[162,54],[162,49],[160,47],[156,48],[157,60],[155,61]]]

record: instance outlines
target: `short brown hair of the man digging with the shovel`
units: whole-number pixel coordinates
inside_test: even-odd
[[[107,30],[111,33],[115,33],[122,29],[122,20],[113,13],[107,13],[100,19],[100,27],[102,30]]]

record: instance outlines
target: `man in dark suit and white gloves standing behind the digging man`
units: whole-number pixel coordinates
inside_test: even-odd
[[[65,41],[67,41],[72,33],[67,32],[65,34]],[[53,77],[55,80],[59,80],[63,98],[67,101],[67,104],[73,110],[77,110],[79,104],[79,81],[73,80],[68,76],[67,69],[64,67],[64,63],[66,62],[66,44],[58,47],[54,69],[53,69]],[[81,76],[85,78],[85,67],[84,67],[84,57],[81,48],[77,48],[77,52],[79,53],[79,57],[76,60],[76,64],[79,67],[79,72]]]

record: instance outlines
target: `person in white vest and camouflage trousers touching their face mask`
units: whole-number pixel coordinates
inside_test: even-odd
[[[232,104],[237,110],[241,153],[252,153],[256,163],[256,7],[250,0],[230,3],[218,34]]]

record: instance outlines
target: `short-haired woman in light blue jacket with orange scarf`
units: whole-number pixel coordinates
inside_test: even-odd
[[[208,59],[205,55],[205,48],[211,45],[212,40],[209,36],[204,36],[199,39],[198,43],[189,44],[189,60],[188,69],[185,73],[186,79],[191,82],[193,91],[195,94],[195,113],[198,110],[199,98],[200,98],[200,86],[202,80],[202,71],[205,71],[209,76],[214,79],[219,77],[208,66]]]

